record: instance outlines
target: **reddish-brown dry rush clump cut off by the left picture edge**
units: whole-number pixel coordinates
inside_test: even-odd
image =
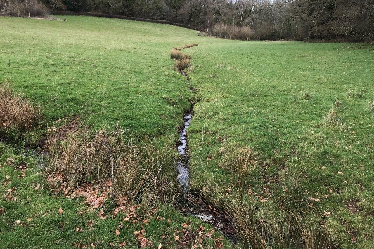
[[[42,115],[40,107],[16,95],[9,81],[0,85],[0,124],[5,129],[30,130],[38,125]]]

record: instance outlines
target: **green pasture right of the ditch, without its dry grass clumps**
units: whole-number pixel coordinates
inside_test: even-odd
[[[267,186],[275,207],[297,209],[289,204],[297,197],[312,210],[305,205],[309,202],[316,223],[326,224],[321,233],[337,246],[372,248],[374,116],[367,105],[374,93],[373,51],[334,43],[228,43],[199,44],[191,51],[191,82],[203,96],[188,130],[195,184],[218,182],[235,189],[218,151],[246,144],[259,153],[260,162],[249,173],[248,188],[260,194]],[[365,94],[349,97],[349,89]],[[303,98],[304,92],[313,98]],[[338,107],[342,122],[325,126],[335,98],[343,103]],[[295,185],[295,173],[300,175],[297,192],[284,193]],[[208,193],[220,199],[216,194]],[[313,203],[308,197],[322,198]],[[350,200],[362,205],[359,211],[348,210]],[[332,215],[324,216],[324,210]]]

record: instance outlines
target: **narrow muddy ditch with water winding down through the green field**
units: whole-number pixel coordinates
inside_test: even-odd
[[[187,82],[190,80],[185,71],[180,69],[178,71],[186,78]],[[191,92],[196,94],[196,92],[192,90],[191,86],[188,88]],[[189,190],[190,154],[188,151],[187,129],[190,126],[191,120],[193,119],[194,108],[194,104],[191,102],[190,104],[190,110],[183,114],[183,126],[178,130],[179,140],[177,143],[180,161],[177,163],[176,169],[178,172],[177,180],[182,186],[183,190],[183,198],[181,199],[182,210],[186,215],[193,215],[202,219],[204,222],[218,229],[226,237],[226,239],[230,240],[232,243],[236,243],[237,236],[235,234],[233,222],[230,216],[227,215],[227,212],[220,210],[214,205],[209,205],[203,196]]]

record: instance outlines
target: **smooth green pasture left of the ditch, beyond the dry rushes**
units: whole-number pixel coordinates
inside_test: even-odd
[[[78,115],[163,133],[181,124],[191,95],[170,50],[194,31],[147,22],[1,18],[1,77],[41,102],[48,120]],[[178,43],[176,43],[178,40]],[[10,63],[10,67],[9,67]]]

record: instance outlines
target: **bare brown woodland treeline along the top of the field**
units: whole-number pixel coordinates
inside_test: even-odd
[[[374,0],[0,0],[0,10],[167,20],[228,39],[374,39]]]

